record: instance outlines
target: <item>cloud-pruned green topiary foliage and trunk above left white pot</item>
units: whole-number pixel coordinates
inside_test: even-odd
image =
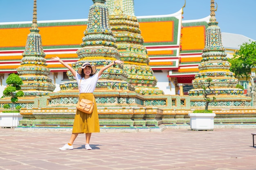
[[[14,105],[18,101],[18,97],[24,96],[24,93],[22,91],[18,91],[21,89],[20,85],[22,85],[23,82],[18,75],[12,73],[6,79],[6,83],[8,87],[4,89],[3,94],[4,96],[11,96],[12,109],[14,109]]]

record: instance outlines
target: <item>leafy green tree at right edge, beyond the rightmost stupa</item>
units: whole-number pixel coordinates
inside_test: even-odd
[[[256,41],[245,42],[240,46],[238,55],[228,59],[231,63],[230,71],[236,74],[236,77],[249,77],[252,68],[256,67]]]

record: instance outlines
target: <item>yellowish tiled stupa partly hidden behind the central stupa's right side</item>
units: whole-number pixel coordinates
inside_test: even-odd
[[[163,94],[155,87],[157,79],[148,66],[149,58],[141,36],[137,17],[134,15],[133,0],[106,0],[111,30],[116,39],[121,65],[127,73],[126,81],[138,94]]]

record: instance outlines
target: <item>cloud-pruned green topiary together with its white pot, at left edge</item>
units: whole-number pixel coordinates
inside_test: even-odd
[[[10,74],[6,79],[8,87],[4,89],[4,97],[11,97],[11,106],[4,104],[4,111],[0,113],[0,127],[16,127],[18,126],[19,120],[22,119],[20,115],[21,106],[16,106],[15,103],[18,101],[18,97],[24,96],[24,93],[20,90],[20,85],[23,84],[22,79],[16,74]],[[11,108],[11,109],[10,109]]]

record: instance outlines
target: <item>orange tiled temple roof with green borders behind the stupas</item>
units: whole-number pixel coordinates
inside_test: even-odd
[[[202,51],[204,48],[206,22],[203,24],[201,22],[193,23],[193,25],[182,24],[182,37],[180,37],[178,34],[180,21],[176,17],[139,18],[138,21],[141,35],[144,38],[144,45],[148,49],[149,65],[152,68],[178,68],[179,58],[181,64],[200,61],[200,57],[193,57],[192,53]],[[70,63],[76,62],[78,60],[76,50],[80,48],[82,43],[86,24],[87,20],[38,21],[39,33],[46,54],[45,58],[50,59],[58,55]],[[20,66],[21,54],[25,50],[30,28],[31,24],[27,22],[20,24],[0,23],[0,72],[13,72]],[[181,52],[179,50],[180,40],[182,42]],[[192,58],[182,57],[180,53],[191,53],[189,55]],[[65,67],[57,63],[48,63],[48,68],[52,71],[66,70]],[[180,71],[182,70],[180,69]]]

